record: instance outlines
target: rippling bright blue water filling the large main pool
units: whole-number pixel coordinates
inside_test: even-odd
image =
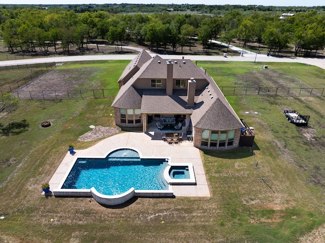
[[[104,195],[136,190],[168,190],[165,159],[141,159],[132,149],[113,151],[106,158],[78,158],[62,189],[90,189]]]

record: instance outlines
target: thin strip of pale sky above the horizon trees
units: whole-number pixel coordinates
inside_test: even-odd
[[[205,5],[264,5],[264,6],[325,6],[324,0],[205,0],[203,2],[198,0],[0,0],[0,4],[35,4],[35,5],[69,5],[69,4],[205,4]]]

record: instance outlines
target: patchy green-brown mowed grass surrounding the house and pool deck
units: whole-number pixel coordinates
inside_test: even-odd
[[[240,82],[238,75],[252,70],[251,64],[206,62],[202,66],[216,81],[229,86]],[[69,65],[62,68],[93,64]],[[95,68],[97,65],[101,64]],[[105,68],[98,70],[95,80],[103,78],[103,87],[115,87],[123,65],[119,71],[114,66],[107,68],[110,71],[105,75]],[[208,65],[215,69],[209,70]],[[286,65],[296,64],[281,64],[278,72],[290,67]],[[306,73],[303,82],[322,85],[321,77],[307,80],[308,73],[313,76],[322,71],[310,67],[299,67],[306,68],[301,71]],[[118,77],[110,80],[114,75]],[[106,84],[105,77],[114,84]],[[0,114],[4,124],[24,118],[30,124],[28,131],[19,135],[0,137],[0,215],[6,216],[0,220],[0,241],[282,243],[298,242],[307,235],[310,242],[317,242],[321,236],[312,232],[325,224],[321,179],[325,162],[324,98],[226,98],[238,116],[254,127],[255,144],[228,152],[201,152],[210,198],[134,198],[116,207],[104,207],[92,199],[89,202],[89,198],[41,196],[41,184],[52,177],[69,144],[87,148],[96,141],[78,142],[77,138],[89,130],[89,125],[114,126],[109,115],[113,114],[113,99],[24,100],[15,113]],[[290,108],[310,115],[311,127],[287,122],[282,110]],[[53,125],[41,128],[44,120]],[[269,179],[266,182],[274,192],[253,168],[252,151],[261,175]]]

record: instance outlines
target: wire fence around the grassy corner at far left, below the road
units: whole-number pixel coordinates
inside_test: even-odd
[[[55,65],[56,65],[55,62],[51,62],[51,63],[41,63],[41,64],[40,63],[32,63],[32,64],[26,63],[23,65],[14,64],[14,65],[0,66],[0,72],[12,71],[12,70],[24,70],[24,69],[28,69],[30,71],[29,75],[2,88],[0,90],[1,94],[3,95],[4,93],[7,93],[7,92],[13,92],[16,89],[21,88],[22,86],[26,85],[28,82],[32,81],[36,77],[39,77],[40,75],[43,75],[43,74],[49,72],[50,70],[52,70]],[[37,70],[35,70],[35,69],[37,69]]]

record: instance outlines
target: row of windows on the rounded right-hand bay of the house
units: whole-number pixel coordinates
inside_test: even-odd
[[[230,131],[213,131],[202,130],[201,146],[209,148],[221,148],[234,145],[234,137],[236,130]]]

